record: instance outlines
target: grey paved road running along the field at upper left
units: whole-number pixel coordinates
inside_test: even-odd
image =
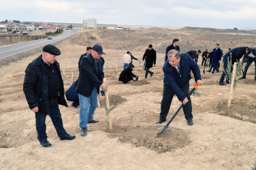
[[[65,39],[66,37],[70,37],[71,35],[74,35],[77,32],[78,31],[65,30],[63,34],[53,37],[53,39],[39,39],[36,41],[28,41],[25,43],[14,44],[12,46],[6,46],[3,48],[0,48],[0,59],[5,58],[7,56],[12,56],[19,52],[31,50],[31,49],[37,48],[39,46],[44,46],[46,44],[52,44],[55,41],[59,41],[61,39]]]

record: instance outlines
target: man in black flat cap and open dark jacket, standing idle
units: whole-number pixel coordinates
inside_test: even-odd
[[[52,146],[46,135],[46,115],[50,116],[61,140],[76,138],[65,131],[59,110],[59,105],[67,107],[61,69],[56,61],[60,54],[61,51],[56,46],[48,44],[44,46],[42,54],[29,63],[25,70],[23,91],[29,108],[35,112],[37,139],[44,147]]]

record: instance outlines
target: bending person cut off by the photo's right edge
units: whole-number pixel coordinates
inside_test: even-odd
[[[254,80],[256,81],[256,48],[250,48],[251,53],[250,54],[244,54],[244,57],[242,58],[242,63],[247,62],[244,67],[244,72],[242,73],[242,77],[238,80],[242,80],[246,78],[247,70],[249,69],[251,63],[254,62],[255,65],[255,71],[254,71]],[[246,61],[247,60],[247,61]]]

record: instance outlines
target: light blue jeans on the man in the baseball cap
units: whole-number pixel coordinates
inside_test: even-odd
[[[97,88],[93,88],[93,92],[90,97],[85,97],[78,94],[80,103],[80,128],[87,129],[87,122],[93,120],[93,114],[98,104]]]

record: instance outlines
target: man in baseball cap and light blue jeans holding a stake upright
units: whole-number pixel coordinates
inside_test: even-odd
[[[80,103],[79,126],[83,137],[87,135],[88,123],[99,122],[93,120],[93,114],[97,107],[99,87],[103,90],[108,88],[108,82],[102,83],[104,73],[101,64],[98,62],[102,54],[105,54],[102,47],[99,44],[95,44],[91,54],[82,58],[78,82],[75,85],[75,91],[78,93]]]

